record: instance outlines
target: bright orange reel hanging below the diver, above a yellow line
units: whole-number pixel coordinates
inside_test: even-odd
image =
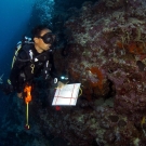
[[[26,85],[24,92],[26,92],[25,103],[28,104],[31,101],[31,87]]]

